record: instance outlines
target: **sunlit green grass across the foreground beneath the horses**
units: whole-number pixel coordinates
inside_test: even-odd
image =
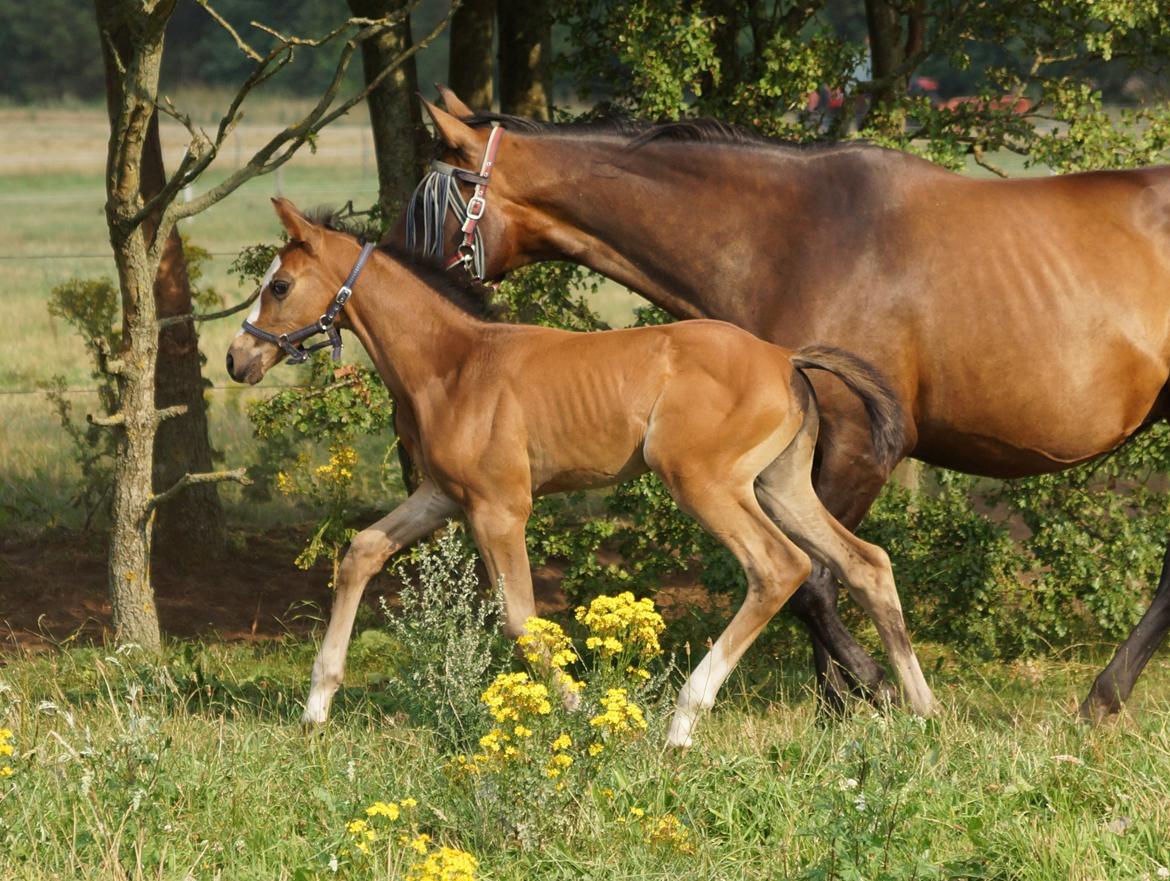
[[[1170,866],[1164,661],[1134,717],[1095,729],[1069,713],[1085,665],[952,662],[934,676],[936,720],[859,710],[826,724],[801,680],[757,661],[691,751],[663,753],[656,735],[628,748],[598,782],[612,801],[576,792],[557,835],[521,845],[443,775],[431,732],[369,684],[386,658],[355,659],[333,720],[303,731],[310,659],[288,643],[173,646],[161,669],[102,649],[13,660],[0,673],[15,745],[0,876],[328,877],[345,823],[405,797],[488,879],[1093,881]],[[534,790],[517,815],[546,796]],[[679,817],[694,852],[647,840],[633,806]]]

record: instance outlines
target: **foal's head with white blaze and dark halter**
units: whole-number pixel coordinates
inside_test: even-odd
[[[310,335],[329,333],[336,344],[339,337],[335,336],[335,322],[344,314],[337,307],[329,322],[323,318],[330,315],[338,289],[358,256],[352,239],[317,226],[288,199],[273,199],[273,205],[289,242],[273,260],[245,330],[236,333],[227,350],[228,374],[249,385],[263,379],[282,358],[307,358],[302,340]],[[298,338],[298,331],[305,332]]]

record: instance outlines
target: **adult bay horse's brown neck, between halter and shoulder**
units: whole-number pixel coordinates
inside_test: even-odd
[[[544,156],[536,151],[546,150]],[[536,259],[562,259],[638,291],[676,316],[742,322],[748,278],[766,277],[806,233],[818,187],[849,190],[862,166],[841,151],[810,165],[798,151],[713,143],[549,138],[534,146],[532,205],[546,223]],[[862,187],[863,188],[863,187]],[[840,202],[847,204],[845,198]],[[832,218],[819,218],[830,226]],[[758,283],[758,282],[757,282]]]

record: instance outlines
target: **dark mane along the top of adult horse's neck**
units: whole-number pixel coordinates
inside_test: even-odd
[[[655,142],[683,140],[702,144],[732,144],[737,146],[765,146],[780,150],[832,150],[839,146],[855,146],[848,142],[797,142],[780,140],[760,135],[751,129],[720,122],[718,119],[681,119],[670,123],[651,123],[625,116],[604,117],[570,123],[544,123],[511,113],[480,112],[462,119],[473,129],[498,123],[504,129],[525,135],[552,137],[586,137],[589,135],[613,135],[629,139],[627,147],[638,150]]]

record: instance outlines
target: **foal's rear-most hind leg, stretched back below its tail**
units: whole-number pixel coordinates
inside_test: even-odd
[[[837,522],[812,487],[815,436],[801,431],[756,480],[764,510],[807,553],[824,563],[873,619],[910,707],[930,715],[934,695],[922,675],[902,618],[889,557]]]

